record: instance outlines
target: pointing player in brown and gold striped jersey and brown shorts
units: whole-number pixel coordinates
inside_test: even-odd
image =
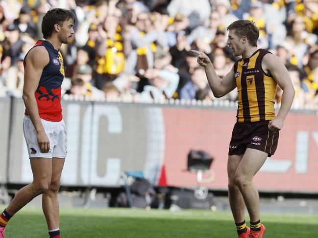
[[[231,23],[227,45],[235,56],[242,56],[221,80],[202,52],[197,62],[204,66],[209,85],[216,97],[222,97],[237,87],[237,122],[232,132],[228,152],[229,202],[239,238],[262,238],[258,190],[253,183],[255,173],[274,154],[279,130],[294,99],[294,87],[283,62],[265,49],[257,48],[259,29],[254,22],[238,20]],[[281,107],[275,115],[276,86],[283,89]],[[245,223],[245,207],[250,226]]]

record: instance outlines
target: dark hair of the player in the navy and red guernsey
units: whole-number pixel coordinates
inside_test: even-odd
[[[63,8],[49,9],[42,21],[43,38],[47,39],[52,35],[55,24],[62,26],[63,22],[68,21],[69,19],[72,19],[73,24],[75,24],[75,16],[72,11]]]

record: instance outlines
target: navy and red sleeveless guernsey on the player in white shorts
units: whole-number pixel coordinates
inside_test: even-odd
[[[48,41],[37,41],[33,48],[37,46],[44,46],[49,53],[49,64],[43,68],[39,86],[34,93],[39,115],[40,118],[47,121],[61,121],[61,85],[64,79],[63,58],[60,51],[54,49]],[[24,114],[28,115],[26,110]]]

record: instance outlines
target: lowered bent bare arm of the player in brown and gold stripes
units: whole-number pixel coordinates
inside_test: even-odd
[[[276,118],[269,122],[269,130],[281,130],[294,99],[295,90],[292,80],[283,62],[274,54],[264,56],[262,68],[265,72],[269,72],[279,87],[283,89],[281,107]]]

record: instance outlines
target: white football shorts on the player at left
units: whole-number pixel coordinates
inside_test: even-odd
[[[65,158],[66,127],[64,121],[50,122],[41,119],[45,132],[49,137],[49,152],[41,153],[36,130],[29,116],[24,116],[23,131],[27,151],[30,158]]]

